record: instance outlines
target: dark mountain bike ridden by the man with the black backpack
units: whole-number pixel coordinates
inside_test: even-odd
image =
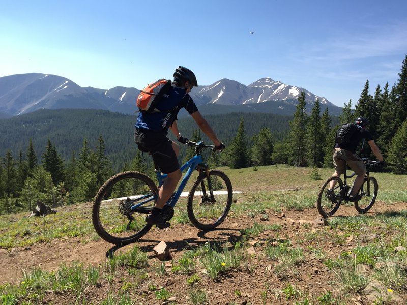
[[[378,161],[367,160],[367,158],[363,158],[362,160],[366,165],[367,170],[369,170],[371,166],[375,166],[379,163]],[[349,195],[353,184],[352,186],[349,186],[347,184],[347,179],[350,179],[355,175],[356,173],[353,172],[350,176],[347,176],[345,170],[343,181],[340,177],[330,177],[324,182],[319,190],[318,201],[316,203],[318,212],[321,216],[327,218],[334,215],[342,202],[347,203],[349,201]],[[331,181],[337,182],[332,191],[329,190]],[[358,192],[361,199],[354,202],[355,208],[359,213],[366,213],[373,206],[377,197],[378,189],[379,186],[377,185],[377,180],[374,177],[371,177],[370,172],[367,171],[363,180],[363,185]]]

